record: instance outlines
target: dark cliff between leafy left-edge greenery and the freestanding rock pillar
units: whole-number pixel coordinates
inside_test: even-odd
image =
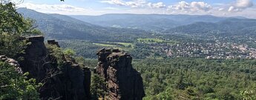
[[[31,44],[25,50],[20,66],[24,72],[30,73],[31,78],[44,84],[39,90],[41,99],[90,99],[91,71],[88,68],[79,67],[76,61],[68,61],[64,57],[65,63],[60,70],[45,47],[44,37],[27,39]],[[48,41],[48,44],[59,47],[54,40]]]

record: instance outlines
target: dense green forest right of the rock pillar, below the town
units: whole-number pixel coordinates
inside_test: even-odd
[[[79,62],[95,67],[97,60]],[[142,74],[145,100],[256,99],[255,59],[134,59],[133,66]]]

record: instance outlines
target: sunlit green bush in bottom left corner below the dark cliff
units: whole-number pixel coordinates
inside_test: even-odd
[[[0,61],[0,99],[39,99],[36,79],[18,73],[15,67]]]

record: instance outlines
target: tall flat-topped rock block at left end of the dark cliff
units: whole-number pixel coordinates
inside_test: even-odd
[[[51,67],[44,37],[31,36],[26,39],[30,44],[22,55],[23,60],[20,61],[20,65],[24,72],[29,72],[30,77],[40,82],[46,76],[46,71]]]

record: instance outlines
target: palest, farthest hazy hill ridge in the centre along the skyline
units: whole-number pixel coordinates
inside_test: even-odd
[[[103,27],[132,27],[143,30],[165,30],[198,21],[217,22],[226,18],[217,16],[159,15],[159,14],[105,14],[102,16],[71,16]]]

